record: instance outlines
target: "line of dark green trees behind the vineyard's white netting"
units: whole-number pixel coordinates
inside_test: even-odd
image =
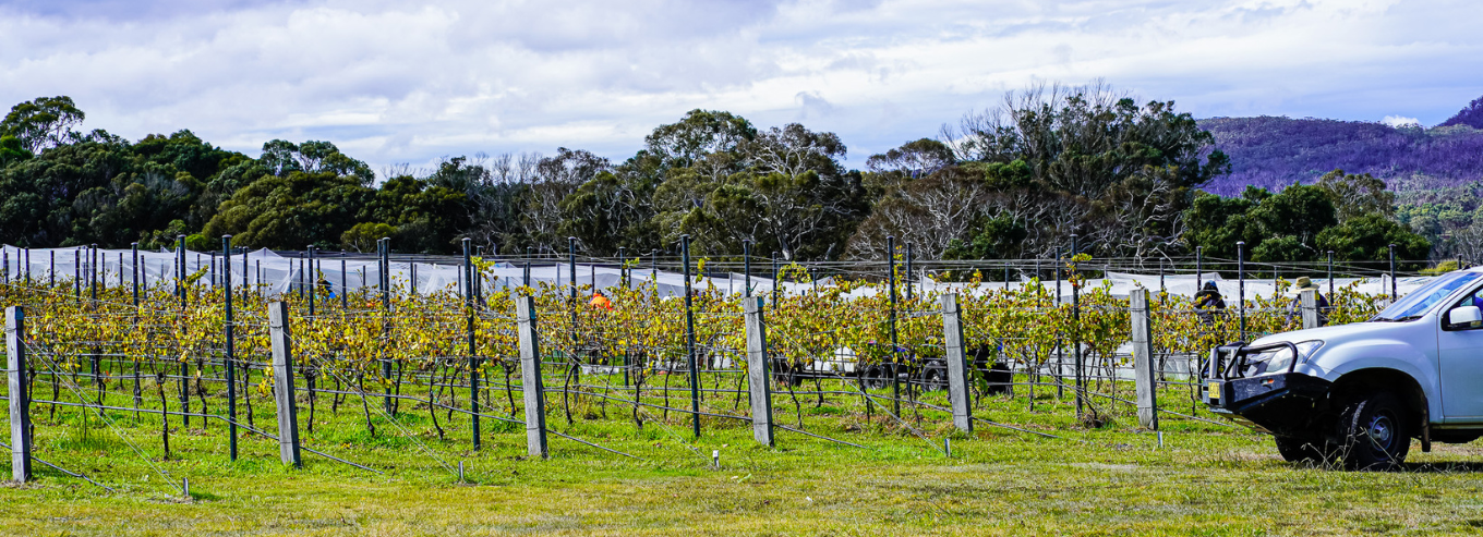
[[[454,254],[486,251],[611,257],[669,251],[792,261],[884,258],[885,237],[922,258],[1031,258],[1083,251],[1175,257],[1203,246],[1268,261],[1378,260],[1430,245],[1394,218],[1367,175],[1238,197],[1200,191],[1229,160],[1172,101],[1137,104],[1106,86],[1034,86],[968,113],[936,138],[909,141],[848,169],[832,132],[759,128],[693,110],[657,126],[633,156],[584,150],[458,156],[435,169],[383,171],[332,142],[273,139],[257,159],[190,131],[129,141],[79,131],[71,98],[15,105],[0,122],[0,240],[49,248],[96,243]],[[1376,184],[1379,182],[1379,184]]]

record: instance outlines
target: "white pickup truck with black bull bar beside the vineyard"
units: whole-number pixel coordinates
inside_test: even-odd
[[[1210,409],[1272,433],[1289,461],[1396,469],[1412,438],[1483,436],[1483,267],[1439,276],[1375,317],[1212,350]]]

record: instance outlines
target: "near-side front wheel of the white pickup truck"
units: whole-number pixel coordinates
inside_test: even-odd
[[[1410,449],[1406,405],[1388,392],[1351,401],[1339,415],[1339,455],[1351,470],[1394,470]]]

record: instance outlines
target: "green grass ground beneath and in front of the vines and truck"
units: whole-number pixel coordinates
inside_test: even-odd
[[[37,390],[40,392],[40,390]],[[150,393],[148,390],[145,393]],[[1170,396],[1175,398],[1175,396]],[[498,405],[497,411],[507,411]],[[676,398],[676,405],[681,399]],[[257,423],[271,430],[270,403]],[[713,402],[731,406],[731,399]],[[214,402],[215,405],[215,402]],[[743,402],[744,406],[744,402]],[[801,398],[808,430],[866,449],[777,432],[777,448],[752,442],[744,423],[707,418],[700,439],[670,412],[644,429],[629,408],[583,401],[568,427],[552,396],[555,430],[621,449],[641,460],[556,436],[552,457],[525,457],[523,430],[483,423],[483,449],[470,449],[467,420],[426,409],[397,423],[374,415],[363,427],[356,398],[338,414],[320,401],[304,442],[383,475],[305,452],[303,469],[277,460],[274,441],[243,435],[242,457],[227,458],[221,423],[181,430],[172,418],[172,458],[160,460],[159,421],[108,412],[133,454],[96,417],[37,405],[42,458],[80,470],[116,492],[37,464],[39,479],[0,488],[0,534],[15,536],[485,536],[485,534],[1455,534],[1483,528],[1477,445],[1413,451],[1404,472],[1351,473],[1283,463],[1268,438],[1200,421],[1164,421],[1164,447],[1136,430],[1120,405],[1102,429],[1077,426],[1069,399],[1041,393],[1035,409],[1020,398],[983,401],[977,415],[1060,435],[1059,439],[979,426],[954,433],[924,411],[927,441],[875,409],[833,398],[822,408]],[[1183,408],[1188,409],[1188,405]],[[780,393],[780,423],[795,424]],[[307,412],[301,409],[301,420]],[[1209,415],[1209,414],[1203,414]],[[598,418],[589,418],[598,417]],[[914,424],[915,415],[908,415]],[[946,458],[942,438],[952,436]],[[424,451],[424,445],[426,449]],[[712,449],[721,467],[710,466]],[[436,457],[436,458],[435,458]],[[442,463],[440,463],[440,461]],[[464,461],[467,481],[442,464]],[[154,467],[169,478],[154,473]],[[191,497],[174,487],[190,478]]]

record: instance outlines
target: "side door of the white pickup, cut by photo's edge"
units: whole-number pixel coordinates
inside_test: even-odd
[[[1474,289],[1441,310],[1437,325],[1441,417],[1446,421],[1483,421],[1483,323],[1447,323],[1447,313],[1462,306],[1483,306],[1483,289]]]

